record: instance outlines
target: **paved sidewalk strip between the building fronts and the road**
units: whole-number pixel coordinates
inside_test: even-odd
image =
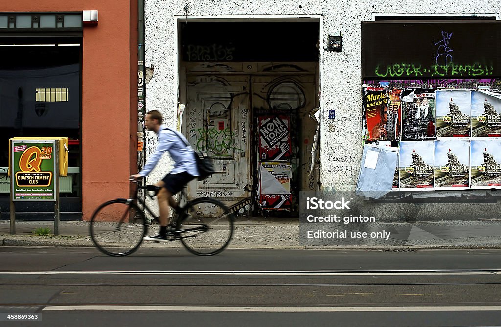
[[[49,227],[51,221],[17,221],[16,234],[10,234],[10,221],[0,221],[0,246],[93,246],[89,222],[61,221],[59,235],[37,236],[33,230]],[[443,221],[417,223],[373,223],[358,226],[328,226],[329,230],[389,232],[380,238],[307,238],[307,230],[325,229],[326,225],[301,226],[294,218],[238,218],[229,248],[319,248],[319,249],[422,249],[422,248],[501,248],[501,222]],[[300,240],[300,232],[302,238]],[[320,245],[319,245],[320,244]],[[181,247],[179,242],[142,246]]]

